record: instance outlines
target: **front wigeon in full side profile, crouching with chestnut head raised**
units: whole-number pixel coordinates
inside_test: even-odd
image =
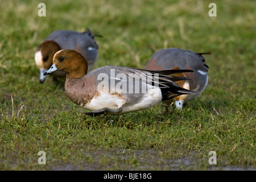
[[[52,67],[67,73],[65,92],[75,104],[84,107],[87,115],[123,114],[148,109],[158,102],[170,100],[190,90],[174,81],[186,77],[172,77],[190,70],[147,71],[144,69],[105,66],[87,73],[87,61],[79,52],[62,49],[55,53]]]

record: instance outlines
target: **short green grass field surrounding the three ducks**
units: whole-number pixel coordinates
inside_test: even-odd
[[[255,1],[0,0],[1,170],[255,170]],[[205,55],[209,83],[182,111],[161,104],[89,117],[64,82],[39,83],[36,47],[55,30],[90,28],[94,68],[144,68],[162,48]],[[39,165],[39,151],[46,165]],[[210,165],[209,152],[217,164]]]

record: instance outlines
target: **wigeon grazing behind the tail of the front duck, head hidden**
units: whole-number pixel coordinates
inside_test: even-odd
[[[208,53],[194,53],[179,48],[161,49],[156,52],[152,59],[147,63],[145,69],[163,70],[163,69],[191,69],[193,72],[179,73],[175,76],[185,76],[189,80],[181,80],[176,83],[181,87],[195,91],[193,94],[183,94],[166,101],[171,104],[173,100],[177,108],[182,109],[183,103],[191,101],[198,97],[208,84],[208,65],[202,56]]]

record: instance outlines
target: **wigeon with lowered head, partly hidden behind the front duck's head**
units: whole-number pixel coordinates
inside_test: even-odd
[[[88,69],[93,67],[98,57],[98,45],[89,28],[86,32],[70,30],[54,31],[36,49],[35,62],[40,69],[40,83],[43,83],[46,79],[43,73],[51,67],[53,56],[60,49],[74,49],[80,52],[88,60]],[[56,72],[52,76],[55,79],[56,77],[65,77],[65,75],[64,72]]]

